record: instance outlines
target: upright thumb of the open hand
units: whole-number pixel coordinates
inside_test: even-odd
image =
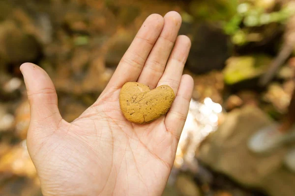
[[[58,96],[49,75],[37,65],[24,63],[20,67],[27,88],[32,124],[58,126],[62,120]]]

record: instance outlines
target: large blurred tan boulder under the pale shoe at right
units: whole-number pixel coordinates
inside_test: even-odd
[[[252,134],[270,123],[257,107],[233,110],[200,147],[200,160],[244,186],[261,189],[270,196],[293,196],[295,175],[282,167],[288,147],[269,156],[255,155],[247,148]]]

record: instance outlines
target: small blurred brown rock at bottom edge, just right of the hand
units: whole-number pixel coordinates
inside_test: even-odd
[[[177,176],[176,187],[180,196],[201,196],[199,187],[187,175],[180,174]]]

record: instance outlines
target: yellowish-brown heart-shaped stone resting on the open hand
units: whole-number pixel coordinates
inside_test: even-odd
[[[123,85],[119,101],[124,117],[132,123],[148,123],[166,114],[175,95],[170,86],[162,85],[153,90],[138,82]]]

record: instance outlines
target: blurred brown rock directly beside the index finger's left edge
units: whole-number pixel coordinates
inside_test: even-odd
[[[119,31],[113,38],[106,54],[106,66],[117,67],[126,50],[129,48],[133,36],[127,31]]]

